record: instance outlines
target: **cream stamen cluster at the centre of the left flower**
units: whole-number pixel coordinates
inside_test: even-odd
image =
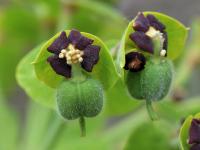
[[[78,50],[72,44],[69,44],[69,46],[66,49],[61,50],[59,58],[66,58],[66,63],[71,65],[76,64],[78,62],[82,62],[83,55],[83,51]]]

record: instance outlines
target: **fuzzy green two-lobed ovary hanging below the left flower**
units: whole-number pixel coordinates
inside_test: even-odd
[[[57,90],[57,106],[61,116],[68,120],[94,117],[103,106],[102,86],[93,79],[64,81]]]

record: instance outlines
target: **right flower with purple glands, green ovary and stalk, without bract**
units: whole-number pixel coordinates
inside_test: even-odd
[[[162,100],[168,94],[173,77],[171,61],[163,58],[167,56],[168,46],[166,26],[154,15],[139,12],[126,31],[125,37],[128,34],[134,42],[132,51],[126,49],[130,46],[125,46],[129,51],[124,66],[128,70],[125,78],[128,92],[138,100],[146,100],[149,115],[156,120],[152,102]]]

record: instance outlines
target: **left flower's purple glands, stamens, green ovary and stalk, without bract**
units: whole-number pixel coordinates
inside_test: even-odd
[[[66,32],[47,48],[53,53],[48,57],[53,70],[66,77],[57,88],[57,107],[65,119],[80,118],[82,135],[85,135],[84,117],[96,116],[103,106],[103,88],[98,81],[84,74],[81,67],[87,72],[92,69],[99,60],[101,47],[92,45],[89,39],[77,30]]]

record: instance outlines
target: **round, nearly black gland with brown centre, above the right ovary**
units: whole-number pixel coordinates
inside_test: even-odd
[[[130,70],[131,72],[138,72],[144,69],[146,64],[146,59],[142,53],[130,52],[126,54],[125,58],[125,70]]]

